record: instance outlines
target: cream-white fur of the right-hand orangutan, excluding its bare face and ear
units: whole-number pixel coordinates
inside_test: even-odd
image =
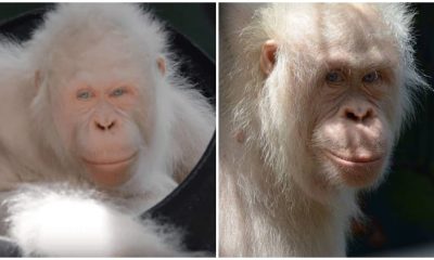
[[[425,86],[414,67],[412,15],[405,4],[393,3],[222,4],[220,256],[345,255],[348,221],[358,214],[358,188],[344,185],[335,169],[312,155],[323,141],[315,133],[319,118],[312,118],[322,105],[315,102],[321,58],[340,44],[342,51],[363,53],[360,42],[373,36],[387,46],[382,52],[394,53],[387,64],[394,69],[394,90],[383,100],[388,160],[411,115],[413,94]],[[259,56],[270,39],[278,42],[277,62],[266,75]]]

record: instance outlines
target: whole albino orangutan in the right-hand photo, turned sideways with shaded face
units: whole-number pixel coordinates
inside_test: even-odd
[[[387,171],[411,98],[399,3],[222,4],[219,252],[345,255],[355,195]]]

